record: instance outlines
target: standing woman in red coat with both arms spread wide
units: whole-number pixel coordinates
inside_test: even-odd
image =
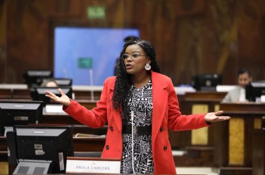
[[[176,174],[168,128],[198,129],[208,122],[229,119],[219,116],[222,111],[181,115],[170,77],[159,73],[154,46],[141,39],[124,44],[117,76],[106,79],[94,109],[88,110],[60,92],[60,98],[46,94],[79,122],[93,128],[108,122],[101,157],[121,158],[121,174]]]

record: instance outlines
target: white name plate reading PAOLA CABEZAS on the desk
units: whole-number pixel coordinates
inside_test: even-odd
[[[68,157],[66,174],[120,174],[118,158]]]

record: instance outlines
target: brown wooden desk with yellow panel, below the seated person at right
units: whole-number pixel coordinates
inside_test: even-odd
[[[252,173],[252,136],[254,129],[261,129],[265,104],[221,103],[220,109],[230,116],[227,122],[214,123],[214,165],[221,167],[221,174],[231,169],[240,174]]]

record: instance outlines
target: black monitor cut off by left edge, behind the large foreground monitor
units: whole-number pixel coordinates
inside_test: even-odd
[[[42,113],[43,102],[0,101],[0,135],[7,127],[40,123]]]

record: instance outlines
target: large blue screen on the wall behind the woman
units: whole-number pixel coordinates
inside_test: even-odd
[[[107,77],[115,75],[124,39],[139,38],[140,30],[58,26],[54,36],[55,77],[70,77],[73,85],[103,86]]]

